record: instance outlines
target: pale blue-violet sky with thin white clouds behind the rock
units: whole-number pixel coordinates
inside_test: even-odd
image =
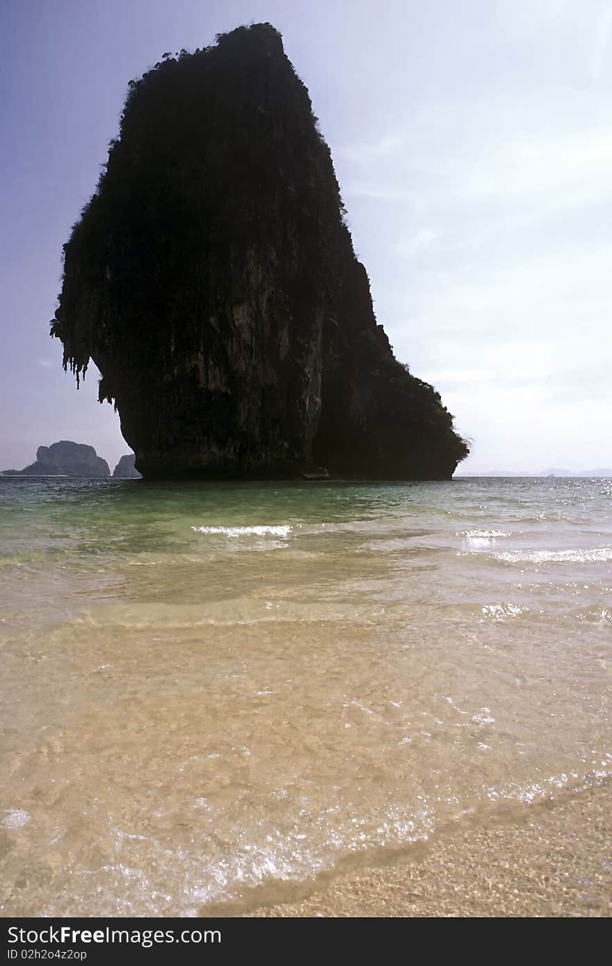
[[[129,447],[48,338],[61,249],[127,83],[269,20],[330,144],[395,355],[474,440],[466,470],[612,465],[607,0],[3,0],[0,468]]]

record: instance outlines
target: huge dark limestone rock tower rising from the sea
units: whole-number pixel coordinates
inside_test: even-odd
[[[452,475],[467,448],[376,326],[342,211],[269,24],[131,83],[51,334],[145,476]]]

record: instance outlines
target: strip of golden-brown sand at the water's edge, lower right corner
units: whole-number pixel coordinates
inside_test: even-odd
[[[393,866],[369,868],[275,917],[584,917],[612,913],[612,786],[532,806],[521,819],[449,829]]]

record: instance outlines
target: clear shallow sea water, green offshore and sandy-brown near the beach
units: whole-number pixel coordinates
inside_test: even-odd
[[[608,775],[611,510],[0,479],[2,914],[231,913]]]

